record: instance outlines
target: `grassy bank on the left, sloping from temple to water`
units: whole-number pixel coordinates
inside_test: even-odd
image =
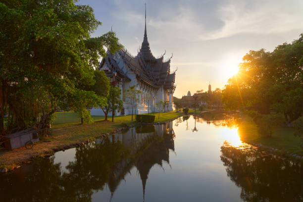
[[[69,115],[69,119],[73,120],[71,118],[73,115],[68,114],[68,112],[65,115]],[[181,112],[164,112],[160,113],[158,118],[158,114],[155,114],[154,122],[155,124],[164,123],[181,115],[184,114]],[[60,122],[57,121],[57,123]],[[140,123],[135,122],[135,116],[133,116],[133,121],[131,120],[131,115],[116,116],[114,117],[114,122],[111,122],[111,116],[108,116],[107,121],[97,119],[94,123],[88,125],[81,125],[79,123],[56,124],[52,126],[50,138],[35,144],[31,150],[19,148],[13,151],[7,151],[1,148],[0,172],[13,170],[24,163],[30,163],[33,158],[49,157],[54,152],[75,148],[92,142],[97,138],[104,137],[105,135],[127,130],[138,124]]]

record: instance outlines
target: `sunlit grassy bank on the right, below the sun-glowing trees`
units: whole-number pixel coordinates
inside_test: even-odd
[[[271,148],[303,155],[303,149],[300,147],[301,138],[294,136],[293,128],[278,127],[273,131],[271,138],[260,137],[252,118],[244,115],[238,132],[241,140],[247,143],[261,143]]]

